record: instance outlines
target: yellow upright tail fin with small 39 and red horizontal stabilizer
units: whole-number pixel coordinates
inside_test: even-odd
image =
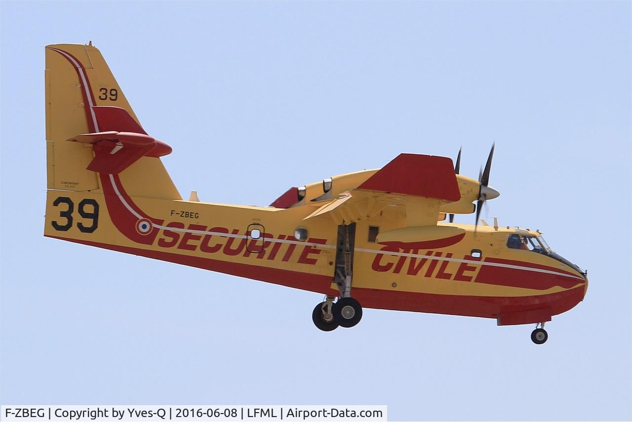
[[[149,136],[99,50],[46,46],[48,189],[101,191],[118,174],[131,196],[182,199],[159,157],[171,148]]]

